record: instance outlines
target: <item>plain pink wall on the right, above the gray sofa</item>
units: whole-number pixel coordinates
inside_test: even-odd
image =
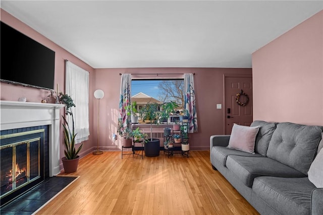
[[[252,54],[253,119],[323,125],[323,11]]]

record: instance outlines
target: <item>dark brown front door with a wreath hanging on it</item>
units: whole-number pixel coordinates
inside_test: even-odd
[[[239,105],[236,96],[243,90],[247,94],[239,97]],[[252,77],[225,77],[225,128],[226,134],[231,134],[234,123],[250,126],[252,123]]]

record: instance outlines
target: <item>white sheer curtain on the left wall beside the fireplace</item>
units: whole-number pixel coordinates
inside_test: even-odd
[[[89,132],[89,72],[66,61],[65,93],[72,97],[76,143],[88,140]],[[68,122],[72,117],[68,116]]]

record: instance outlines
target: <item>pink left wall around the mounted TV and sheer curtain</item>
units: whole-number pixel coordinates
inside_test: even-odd
[[[31,37],[37,42],[43,44],[44,46],[50,48],[55,51],[55,86],[59,83],[60,91],[64,92],[65,88],[65,59],[70,62],[78,65],[79,67],[87,70],[90,73],[90,105],[89,105],[89,118],[90,118],[90,134],[93,134],[93,80],[94,80],[94,69],[89,65],[85,64],[83,61],[79,60],[71,53],[53,43],[43,35],[39,34],[37,31],[33,30],[26,24],[22,23],[15,17],[11,16],[9,13],[1,9],[1,21],[15,28],[16,30],[24,33],[25,35]],[[2,53],[4,55],[4,53]],[[16,86],[12,84],[7,84],[0,82],[1,87],[1,100],[10,100],[10,101],[18,101],[19,97],[26,97],[29,102],[40,102],[41,99],[44,99],[49,94],[48,90],[43,89],[34,89],[23,86]],[[64,110],[61,110],[61,115],[64,114]],[[62,122],[62,121],[61,121]],[[61,126],[61,134],[63,134],[63,127]],[[89,140],[84,142],[84,146],[82,149],[82,153],[80,155],[84,155],[92,151],[92,137],[94,135],[89,136]],[[64,138],[63,135],[60,137],[60,155],[64,156]]]

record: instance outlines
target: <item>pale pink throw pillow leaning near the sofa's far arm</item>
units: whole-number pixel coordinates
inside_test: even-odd
[[[241,126],[233,124],[228,148],[254,153],[254,143],[260,126]]]

